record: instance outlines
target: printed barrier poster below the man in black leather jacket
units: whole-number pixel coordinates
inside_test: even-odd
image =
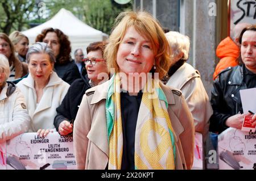
[[[218,136],[220,170],[256,169],[256,132],[228,128]]]

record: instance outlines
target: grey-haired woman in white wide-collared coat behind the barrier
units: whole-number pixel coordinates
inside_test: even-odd
[[[32,131],[47,136],[55,129],[56,108],[67,94],[69,84],[53,71],[55,57],[46,43],[38,42],[28,49],[27,63],[30,74],[17,86],[25,96]]]

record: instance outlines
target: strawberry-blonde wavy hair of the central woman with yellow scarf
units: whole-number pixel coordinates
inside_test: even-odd
[[[108,68],[114,68],[115,73],[119,72],[117,52],[119,44],[122,42],[129,27],[134,27],[140,35],[150,40],[155,53],[155,72],[159,73],[159,79],[161,79],[166,75],[170,67],[170,49],[163,28],[158,20],[144,11],[121,12],[115,19],[113,31],[109,36],[109,43],[104,51],[104,58],[108,60]]]

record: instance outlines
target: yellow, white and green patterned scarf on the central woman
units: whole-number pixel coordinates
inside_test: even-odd
[[[121,169],[123,133],[121,117],[121,81],[110,79],[106,100],[109,141],[108,169]],[[175,169],[175,138],[168,115],[168,103],[159,82],[148,79],[143,89],[135,131],[134,169]],[[141,115],[141,116],[140,116]]]

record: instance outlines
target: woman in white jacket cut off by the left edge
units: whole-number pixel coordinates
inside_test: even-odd
[[[24,96],[9,78],[7,58],[0,54],[0,143],[27,132],[30,125]]]

